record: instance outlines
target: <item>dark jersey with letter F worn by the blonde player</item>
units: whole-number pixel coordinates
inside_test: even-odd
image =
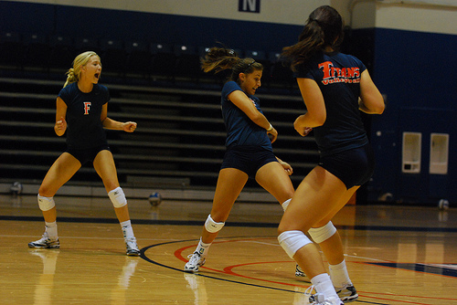
[[[104,86],[94,84],[90,93],[81,92],[76,82],[58,93],[67,104],[67,145],[73,149],[86,149],[107,144],[101,123],[101,108],[110,100]]]

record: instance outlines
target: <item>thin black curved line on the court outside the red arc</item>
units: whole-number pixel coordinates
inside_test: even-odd
[[[229,238],[235,238],[235,237],[224,237],[224,239],[229,239]],[[244,237],[246,238],[246,237]],[[253,238],[253,237],[250,237],[250,238]],[[160,244],[155,244],[155,245],[151,245],[151,246],[147,246],[147,247],[143,247],[140,252],[141,252],[141,258],[143,258],[144,260],[154,264],[154,265],[157,265],[157,266],[160,266],[160,267],[163,267],[163,268],[168,268],[168,269],[172,269],[172,270],[175,270],[175,271],[178,271],[178,272],[181,272],[181,273],[186,273],[186,271],[184,271],[183,269],[178,269],[178,268],[174,268],[174,267],[171,267],[171,266],[167,266],[167,265],[164,265],[164,264],[161,264],[157,261],[155,261],[154,259],[152,258],[148,258],[145,254],[145,252],[152,248],[152,247],[158,247],[158,246],[164,246],[164,245],[170,245],[170,244],[177,244],[177,243],[183,243],[183,242],[187,242],[187,241],[197,241],[197,239],[186,239],[186,240],[175,240],[175,241],[169,241],[169,242],[165,242],[165,243],[160,243]],[[229,282],[229,283],[234,283],[234,284],[239,284],[239,285],[245,285],[245,286],[250,286],[250,287],[256,287],[256,288],[260,288],[260,289],[271,289],[271,290],[279,290],[279,291],[284,291],[284,292],[292,292],[292,293],[303,293],[303,292],[300,292],[300,291],[295,291],[295,290],[290,290],[290,289],[281,289],[281,288],[274,288],[274,287],[270,287],[270,286],[265,286],[265,285],[258,285],[258,284],[250,284],[250,283],[245,283],[245,282],[242,282],[242,281],[239,281],[239,280],[233,280],[233,279],[221,279],[221,278],[218,278],[218,277],[214,277],[214,276],[208,276],[208,275],[205,275],[205,274],[200,274],[200,273],[193,273],[194,275],[198,276],[198,277],[202,277],[202,278],[207,278],[207,279],[217,279],[217,280],[221,280],[221,281],[225,281],[225,282]],[[378,302],[373,302],[373,301],[367,301],[367,300],[356,300],[355,303],[364,303],[364,304],[374,304],[374,305],[389,305],[389,304],[386,304],[386,303],[378,303]]]

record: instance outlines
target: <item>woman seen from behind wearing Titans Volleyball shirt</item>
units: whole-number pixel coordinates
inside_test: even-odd
[[[331,219],[374,171],[375,159],[360,110],[380,114],[385,107],[365,65],[338,51],[342,40],[341,16],[324,5],[311,13],[299,41],[282,52],[291,63],[307,110],[296,119],[294,128],[302,136],[314,131],[321,157],[282,216],[278,240],[311,279],[316,291],[311,303],[322,305],[358,298]],[[322,248],[330,274],[305,233]]]

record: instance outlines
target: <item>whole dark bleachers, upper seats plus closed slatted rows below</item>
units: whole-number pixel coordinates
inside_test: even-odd
[[[112,96],[109,116],[138,122],[133,133],[107,131],[122,184],[144,184],[158,178],[214,187],[226,133],[220,112],[222,79],[206,75],[203,84],[197,65],[205,47],[3,35],[0,58],[15,49],[15,57],[0,62],[2,179],[40,182],[63,152],[65,137],[58,137],[53,130],[55,100],[65,82],[62,71],[70,68],[77,54],[90,49],[101,54],[101,83]],[[237,52],[268,65],[269,58],[262,51]],[[52,62],[59,53],[65,59]],[[27,56],[34,58],[26,60]],[[121,61],[125,66],[112,67]],[[265,72],[264,84],[270,76]],[[269,84],[258,95],[262,110],[280,133],[273,145],[275,153],[292,164],[292,181],[298,184],[316,163],[317,151],[312,137],[302,138],[293,130],[292,122],[303,113],[303,101],[298,91],[289,83],[287,86]],[[83,166],[70,182],[88,181],[101,184],[91,165]],[[255,183],[250,181],[249,185]]]

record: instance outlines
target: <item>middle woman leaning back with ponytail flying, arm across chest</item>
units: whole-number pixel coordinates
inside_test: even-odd
[[[221,97],[227,151],[218,175],[211,213],[196,250],[189,255],[186,272],[197,272],[205,264],[209,246],[225,225],[235,200],[250,177],[255,178],[284,209],[293,195],[289,178],[292,167],[275,157],[271,148],[278,131],[263,115],[260,100],[254,96],[261,85],[262,65],[252,58],[239,58],[231,49],[212,47],[202,58],[201,67],[205,72],[231,71]]]

